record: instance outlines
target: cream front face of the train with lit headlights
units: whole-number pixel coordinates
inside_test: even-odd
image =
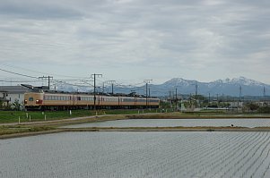
[[[24,106],[26,110],[40,110],[43,105],[44,93],[25,93]]]

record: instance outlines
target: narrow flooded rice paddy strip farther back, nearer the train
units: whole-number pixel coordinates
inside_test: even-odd
[[[128,119],[107,121],[98,123],[80,123],[66,125],[65,128],[83,128],[83,127],[266,127],[270,126],[270,119]]]

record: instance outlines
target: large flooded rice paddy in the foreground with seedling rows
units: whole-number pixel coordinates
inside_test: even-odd
[[[0,177],[270,177],[269,152],[269,132],[62,132],[0,140]]]

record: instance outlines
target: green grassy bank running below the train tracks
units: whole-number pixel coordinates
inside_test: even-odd
[[[144,119],[165,119],[165,118],[270,118],[270,114],[237,114],[226,112],[168,112],[161,113],[160,109],[144,110],[74,110],[74,111],[0,111],[0,123],[18,123],[19,117],[21,123],[65,120],[67,118],[76,118],[93,115],[128,115],[127,118],[144,118]]]

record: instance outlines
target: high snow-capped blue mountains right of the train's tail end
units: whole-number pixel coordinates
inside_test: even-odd
[[[247,79],[245,77],[217,80],[211,82],[189,81],[180,78],[175,78],[165,83],[155,86],[160,89],[178,89],[181,94],[194,94],[208,96],[210,95],[229,95],[229,96],[263,96],[264,88],[270,91],[270,85],[265,83]]]

